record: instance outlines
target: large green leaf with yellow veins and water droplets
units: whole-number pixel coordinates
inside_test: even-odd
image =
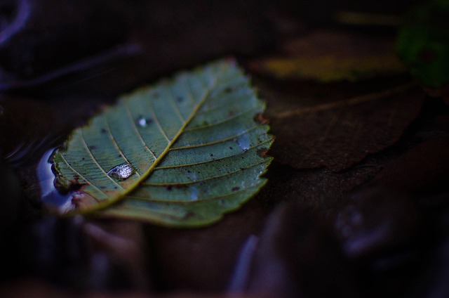
[[[76,129],[54,155],[55,184],[81,187],[72,202],[84,213],[209,224],[266,182],[273,137],[263,111],[232,61],[182,72]]]

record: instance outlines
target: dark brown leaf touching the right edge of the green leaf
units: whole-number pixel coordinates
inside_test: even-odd
[[[410,84],[268,115],[276,135],[272,155],[297,169],[341,171],[394,144],[417,117],[424,93]]]

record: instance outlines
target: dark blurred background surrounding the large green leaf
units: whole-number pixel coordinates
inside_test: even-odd
[[[394,46],[428,2],[1,1],[0,296],[447,297],[449,109]],[[46,150],[121,93],[224,57],[276,136],[248,204],[197,229],[46,212]]]

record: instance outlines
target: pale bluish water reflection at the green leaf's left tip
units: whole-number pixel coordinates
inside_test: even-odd
[[[41,200],[48,209],[53,209],[61,213],[69,212],[74,209],[72,205],[72,193],[62,195],[53,185],[55,175],[51,171],[51,163],[48,159],[51,157],[54,148],[46,151],[37,165],[37,179],[41,186]]]

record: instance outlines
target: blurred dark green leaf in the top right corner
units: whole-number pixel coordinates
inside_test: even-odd
[[[396,49],[411,73],[429,88],[449,84],[449,5],[432,1],[410,11]]]

